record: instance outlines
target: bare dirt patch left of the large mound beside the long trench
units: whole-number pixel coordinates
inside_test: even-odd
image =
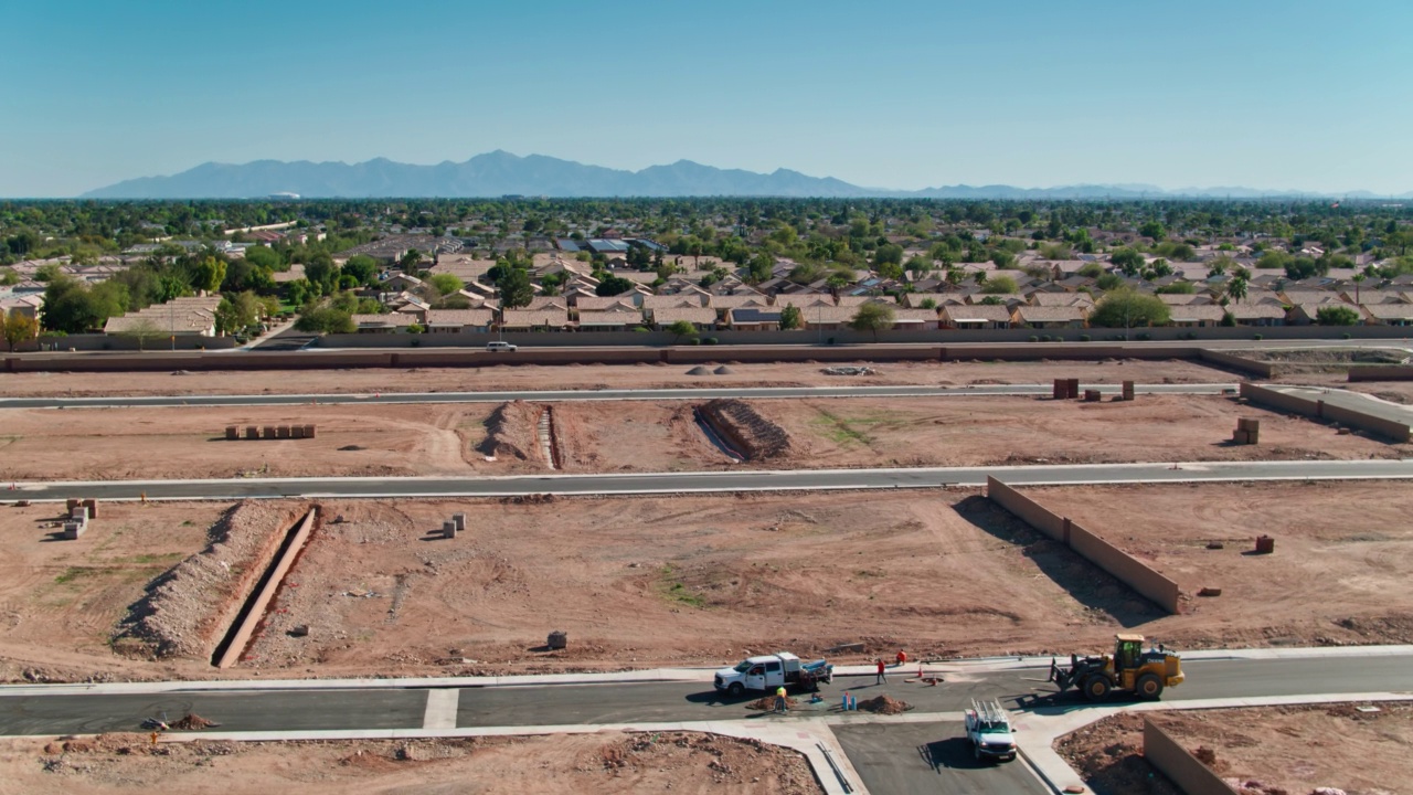
[[[150,665],[109,648],[113,628],[151,580],[206,546],[226,508],[100,502],[82,538],[61,540],[62,504],[0,506],[0,679],[143,676]]]

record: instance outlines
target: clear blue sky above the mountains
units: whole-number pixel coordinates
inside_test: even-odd
[[[1413,191],[1410,0],[7,0],[0,195],[205,161]]]

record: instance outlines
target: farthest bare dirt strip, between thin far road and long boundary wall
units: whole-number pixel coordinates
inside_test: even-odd
[[[731,362],[731,352],[722,351]],[[870,362],[859,361],[859,365]],[[731,364],[729,375],[687,375],[688,365],[496,365],[489,368],[328,369],[250,372],[6,373],[0,395],[8,398],[86,398],[100,395],[263,395],[374,392],[499,392],[520,389],[666,389],[687,386],[846,386],[1048,383],[1078,378],[1085,383],[1212,383],[1236,375],[1201,364],[1166,359],[1063,362],[896,362],[872,365],[875,375],[825,375],[825,365]]]

